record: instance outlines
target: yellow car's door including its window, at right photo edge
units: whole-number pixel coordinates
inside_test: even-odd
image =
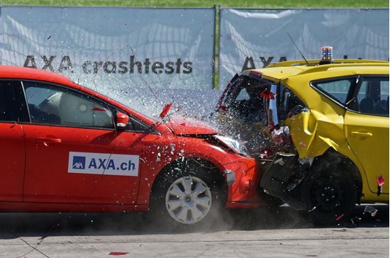
[[[345,135],[367,174],[370,191],[389,194],[389,76],[360,77],[356,103],[345,113]]]

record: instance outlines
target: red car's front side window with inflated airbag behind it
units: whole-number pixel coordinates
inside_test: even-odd
[[[23,82],[31,123],[113,129],[110,109],[88,96],[62,86]]]

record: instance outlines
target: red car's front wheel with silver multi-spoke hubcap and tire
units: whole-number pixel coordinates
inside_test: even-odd
[[[152,192],[152,223],[180,228],[212,224],[225,204],[223,187],[215,178],[204,167],[176,167],[165,173]]]

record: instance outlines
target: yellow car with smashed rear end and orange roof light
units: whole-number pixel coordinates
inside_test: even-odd
[[[389,62],[320,63],[236,74],[216,111],[260,159],[260,190],[328,225],[356,203],[389,203]]]

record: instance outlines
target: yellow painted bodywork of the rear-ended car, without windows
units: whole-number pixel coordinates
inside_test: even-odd
[[[351,159],[359,169],[362,201],[389,202],[389,117],[350,111],[311,86],[314,80],[357,74],[389,76],[389,62],[354,61],[353,64],[317,66],[313,64],[318,60],[309,60],[309,65],[303,61],[289,61],[255,71],[264,79],[292,89],[309,108],[309,112],[284,120],[300,158],[318,157],[333,148]],[[291,66],[294,64],[304,65]],[[380,195],[377,194],[377,176],[383,176],[385,181]]]

